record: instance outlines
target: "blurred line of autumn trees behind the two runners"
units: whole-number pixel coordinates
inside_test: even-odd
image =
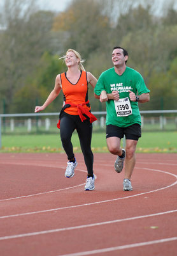
[[[161,5],[160,5],[161,3]],[[4,0],[0,8],[0,111],[32,113],[43,104],[68,48],[80,52],[97,78],[112,67],[111,52],[122,46],[127,65],[151,90],[141,109],[175,109],[177,97],[177,11],[175,1],[73,0],[64,12],[42,10],[34,0]],[[105,109],[94,99],[92,111]],[[47,112],[60,111],[62,93]]]

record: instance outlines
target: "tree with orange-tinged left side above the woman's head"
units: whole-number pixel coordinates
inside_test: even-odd
[[[101,5],[94,0],[73,0],[66,12],[55,18],[53,29],[66,31],[66,49],[73,48],[88,58],[90,52],[106,47],[109,19],[102,15]]]

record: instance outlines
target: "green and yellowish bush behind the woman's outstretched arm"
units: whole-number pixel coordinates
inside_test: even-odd
[[[45,52],[39,60],[36,69],[27,77],[25,84],[19,88],[13,97],[13,112],[31,113],[36,104],[42,105],[49,93],[53,90],[55,77],[64,72],[65,66],[59,60],[59,56],[52,56]],[[46,112],[57,112],[62,107],[63,96],[55,99],[45,110]]]

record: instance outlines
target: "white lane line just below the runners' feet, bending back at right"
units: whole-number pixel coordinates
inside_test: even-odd
[[[173,173],[164,172],[164,171],[161,171],[161,170],[149,169],[149,168],[140,168],[140,169],[141,170],[145,169],[145,170],[150,170],[150,171],[153,170],[154,172],[166,173],[166,174],[169,174],[171,176],[176,177],[176,179],[177,179],[177,175],[175,175]],[[83,207],[83,206],[88,206],[88,205],[95,205],[95,204],[103,204],[103,203],[108,203],[108,202],[114,202],[114,201],[117,201],[117,200],[122,200],[122,199],[132,198],[132,197],[136,197],[136,196],[146,195],[146,194],[149,194],[149,193],[160,191],[162,189],[171,188],[172,186],[174,186],[176,184],[177,184],[177,180],[173,184],[170,184],[170,185],[168,185],[166,187],[155,189],[155,190],[148,191],[148,192],[139,193],[139,194],[132,195],[132,196],[124,196],[124,197],[120,197],[120,198],[114,198],[114,199],[109,199],[109,200],[104,200],[104,201],[92,202],[92,203],[88,203],[88,204],[71,205],[71,206],[59,207],[59,208],[48,209],[48,210],[43,210],[43,211],[24,212],[24,213],[19,213],[19,214],[0,216],[0,219],[13,218],[13,217],[25,216],[25,215],[30,215],[30,214],[38,214],[38,213],[43,213],[43,212],[52,212],[52,211],[59,211],[59,210],[63,210],[63,209],[73,209],[73,208],[76,208],[76,207]]]

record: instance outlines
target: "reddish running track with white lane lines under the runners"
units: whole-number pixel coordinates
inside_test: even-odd
[[[176,154],[137,154],[133,191],[115,156],[94,154],[96,189],[65,154],[0,154],[1,256],[170,256],[177,249]]]

